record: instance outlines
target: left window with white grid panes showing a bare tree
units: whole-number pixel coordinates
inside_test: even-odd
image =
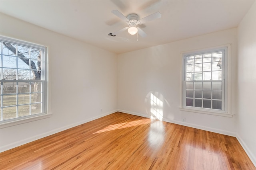
[[[46,47],[0,37],[0,122],[46,114]]]

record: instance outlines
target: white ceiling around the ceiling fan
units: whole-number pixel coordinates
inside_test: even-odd
[[[0,0],[0,12],[120,54],[237,27],[255,0]],[[140,27],[147,37],[108,36],[127,26],[111,13],[155,12],[162,17]]]

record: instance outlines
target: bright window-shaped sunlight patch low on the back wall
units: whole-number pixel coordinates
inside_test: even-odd
[[[152,119],[163,120],[163,102],[154,94],[150,94],[150,112]]]

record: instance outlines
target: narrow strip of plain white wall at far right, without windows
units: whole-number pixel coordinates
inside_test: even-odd
[[[238,26],[238,140],[256,166],[256,2]]]

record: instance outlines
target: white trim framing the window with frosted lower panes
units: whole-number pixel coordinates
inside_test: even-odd
[[[232,44],[225,44],[210,48],[204,48],[204,49],[197,49],[197,50],[191,50],[191,51],[184,51],[181,52],[181,63],[182,63],[182,70],[181,70],[181,82],[180,82],[180,110],[181,111],[188,111],[188,112],[194,112],[194,113],[202,113],[202,114],[210,114],[210,115],[218,115],[218,116],[224,116],[224,117],[232,117],[233,114],[231,113],[231,56],[232,56]],[[215,109],[204,109],[204,108],[197,108],[197,107],[184,107],[184,55],[192,54],[192,53],[204,53],[207,51],[212,50],[218,50],[218,49],[224,49],[226,48],[227,53],[225,53],[225,111],[215,110]]]

